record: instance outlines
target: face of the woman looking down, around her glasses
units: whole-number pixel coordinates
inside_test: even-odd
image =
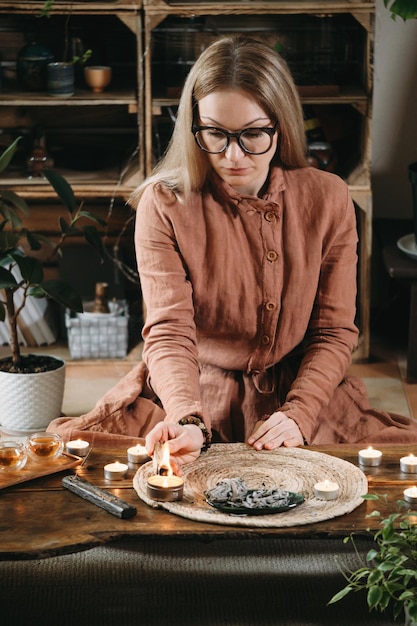
[[[215,126],[229,132],[244,128],[270,128],[275,124],[265,111],[243,91],[214,91],[198,102],[201,126]],[[256,196],[264,185],[272,157],[277,149],[278,131],[264,154],[248,154],[236,138],[220,154],[207,154],[215,172],[225,182],[244,194]]]

